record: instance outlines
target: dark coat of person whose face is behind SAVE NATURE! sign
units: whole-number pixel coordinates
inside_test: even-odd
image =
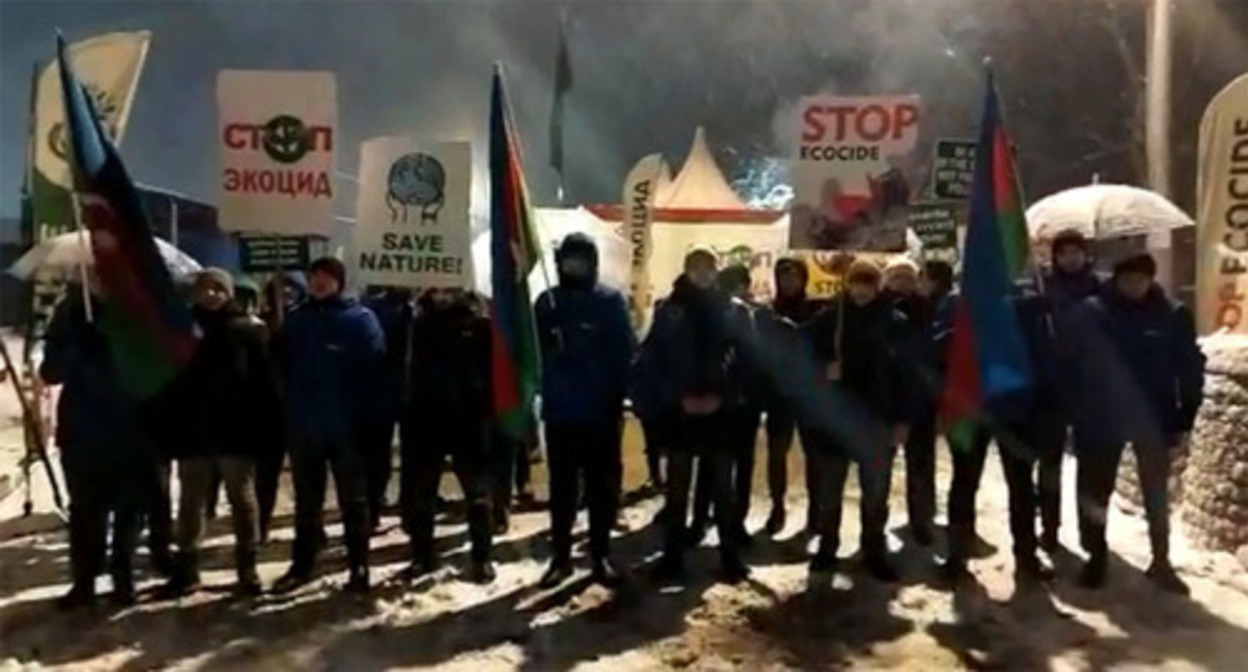
[[[403,420],[418,427],[487,422],[493,416],[489,320],[468,297],[436,307],[428,296],[414,320]]]

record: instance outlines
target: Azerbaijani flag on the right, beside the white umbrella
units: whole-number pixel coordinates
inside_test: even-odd
[[[966,447],[985,407],[1031,381],[1027,347],[1015,314],[1015,281],[1030,259],[1022,190],[1010,136],[988,72],[975,150],[962,294],[953,309],[941,420],[950,443]]]

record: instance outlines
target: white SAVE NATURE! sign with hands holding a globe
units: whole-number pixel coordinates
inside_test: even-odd
[[[363,142],[353,245],[359,282],[472,287],[470,197],[468,142]]]

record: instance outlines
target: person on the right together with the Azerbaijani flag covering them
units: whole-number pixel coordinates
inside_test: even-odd
[[[940,421],[948,436],[953,478],[948,491],[951,583],[970,575],[975,498],[996,438],[1010,488],[1015,572],[1025,581],[1047,577],[1036,557],[1036,508],[1043,410],[1055,403],[1052,334],[1041,299],[1023,280],[1031,265],[1022,190],[1013,147],[988,72],[970,221],[963,250],[962,294],[955,300]]]

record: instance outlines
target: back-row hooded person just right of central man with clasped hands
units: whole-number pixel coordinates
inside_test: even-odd
[[[775,265],[776,296],[770,306],[758,312],[759,366],[769,385],[765,388],[768,435],[768,495],[771,512],[764,527],[766,533],[778,535],[785,527],[785,495],[789,490],[789,451],[797,431],[796,407],[792,396],[801,388],[801,372],[812,366],[801,330],[824,310],[826,302],[809,299],[806,285],[810,271],[806,262],[785,257]],[[814,471],[806,462],[806,491],[812,491]],[[807,527],[814,531],[819,518],[814,498],[807,498]]]

